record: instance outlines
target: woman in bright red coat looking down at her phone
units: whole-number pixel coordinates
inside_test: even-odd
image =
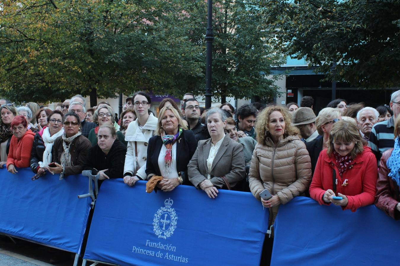
[[[334,124],[322,150],[310,185],[310,197],[320,204],[356,211],[374,203],[378,168],[371,149],[352,121]],[[334,199],[333,197],[343,199]]]

